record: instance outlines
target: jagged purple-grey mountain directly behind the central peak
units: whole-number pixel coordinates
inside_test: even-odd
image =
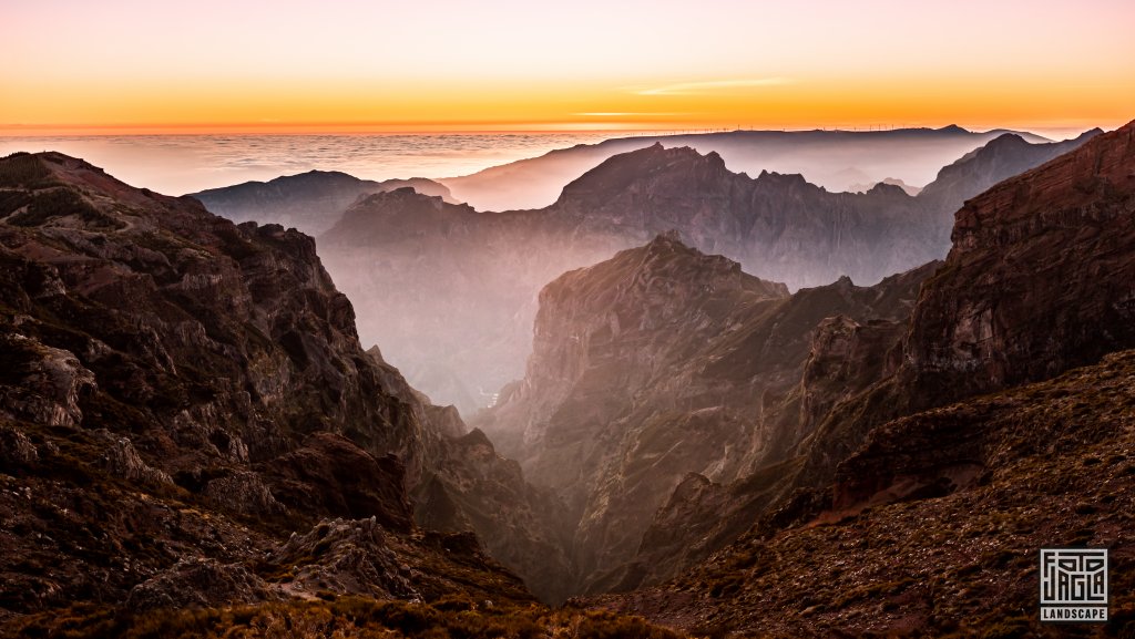
[[[940,216],[901,188],[829,193],[800,175],[730,171],[716,153],[661,144],[615,155],[564,187],[545,215],[591,234],[646,242],[678,230],[692,246],[791,288],[841,276],[874,283],[940,257]]]

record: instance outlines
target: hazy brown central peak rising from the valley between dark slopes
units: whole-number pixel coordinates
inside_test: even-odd
[[[817,393],[801,396],[801,380],[815,389],[805,369],[824,319],[872,331],[905,319],[930,270],[789,295],[661,235],[544,288],[524,379],[473,423],[564,501],[573,590],[611,589],[632,579],[612,569],[683,477],[747,476],[808,437],[801,406]]]

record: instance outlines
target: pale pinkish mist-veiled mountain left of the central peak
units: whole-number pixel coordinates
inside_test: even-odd
[[[540,287],[625,246],[575,236],[554,216],[479,212],[401,188],[356,202],[319,247],[361,335],[469,415],[523,371]]]

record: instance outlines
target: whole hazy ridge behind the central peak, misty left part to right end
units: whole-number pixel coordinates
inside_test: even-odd
[[[477,211],[409,190],[364,197],[319,246],[364,340],[468,415],[522,375],[537,293],[564,271],[676,230],[792,289],[844,275],[873,284],[945,257],[965,197],[1082,142],[998,143],[991,153],[1003,159],[977,152],[918,197],[891,185],[852,194],[799,175],[750,178],[715,153],[655,144],[607,159],[536,211]]]

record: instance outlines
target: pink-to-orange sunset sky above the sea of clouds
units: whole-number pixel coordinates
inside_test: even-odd
[[[1130,0],[0,0],[0,135],[1135,117]]]

